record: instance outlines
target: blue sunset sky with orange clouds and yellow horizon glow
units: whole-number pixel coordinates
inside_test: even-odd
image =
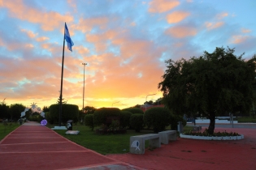
[[[128,108],[162,97],[165,61],[216,47],[256,54],[254,0],[0,0],[0,101],[56,104],[64,24],[67,104]],[[155,94],[155,95],[153,95]],[[152,95],[152,96],[149,96]]]

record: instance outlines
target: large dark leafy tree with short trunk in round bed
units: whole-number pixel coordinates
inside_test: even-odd
[[[209,134],[215,130],[219,113],[248,113],[253,100],[256,56],[248,61],[236,57],[234,49],[216,48],[201,57],[173,62],[166,61],[167,70],[158,88],[171,113],[199,113],[210,119]]]

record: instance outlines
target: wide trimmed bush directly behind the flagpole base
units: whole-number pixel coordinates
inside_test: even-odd
[[[78,117],[78,106],[75,104],[63,104],[62,105],[62,115],[61,122],[66,125],[68,120],[73,120],[73,123],[76,123]],[[59,122],[59,104],[50,105],[50,118],[54,124]]]

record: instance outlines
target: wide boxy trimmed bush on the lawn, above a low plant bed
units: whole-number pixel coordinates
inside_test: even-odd
[[[109,117],[120,117],[121,111],[119,108],[98,108],[93,113],[93,123],[95,126],[106,125],[106,118]],[[111,122],[109,123],[111,124]]]

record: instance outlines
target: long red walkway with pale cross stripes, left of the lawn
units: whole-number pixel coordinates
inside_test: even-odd
[[[0,142],[0,169],[140,169],[100,155],[39,123],[21,125]]]

